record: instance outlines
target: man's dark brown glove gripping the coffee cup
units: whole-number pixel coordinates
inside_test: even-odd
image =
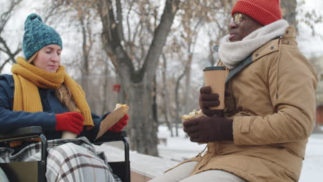
[[[210,86],[202,87],[199,89],[199,108],[202,112],[208,116],[218,116],[223,115],[223,110],[210,110],[210,107],[216,107],[219,103],[219,94],[212,94],[212,89]]]

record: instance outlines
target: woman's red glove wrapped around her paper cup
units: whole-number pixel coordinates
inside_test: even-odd
[[[55,114],[57,131],[69,131],[79,134],[83,130],[84,117],[79,112],[65,112],[63,114]]]

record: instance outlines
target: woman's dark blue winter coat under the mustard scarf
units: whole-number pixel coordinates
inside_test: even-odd
[[[47,139],[60,139],[61,132],[55,131],[55,114],[69,112],[65,105],[61,105],[55,95],[55,90],[39,88],[43,112],[13,111],[14,79],[12,75],[0,74],[0,132],[8,132],[21,127],[40,125]],[[104,115],[106,117],[106,114]],[[92,113],[95,128],[84,130],[79,136],[92,139],[99,131],[99,125],[104,117]],[[84,128],[85,129],[85,128]]]

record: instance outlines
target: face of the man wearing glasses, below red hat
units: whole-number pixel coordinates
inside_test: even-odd
[[[241,41],[258,28],[262,28],[262,24],[248,17],[246,14],[236,12],[233,15],[233,21],[229,24],[229,40],[231,42]]]

